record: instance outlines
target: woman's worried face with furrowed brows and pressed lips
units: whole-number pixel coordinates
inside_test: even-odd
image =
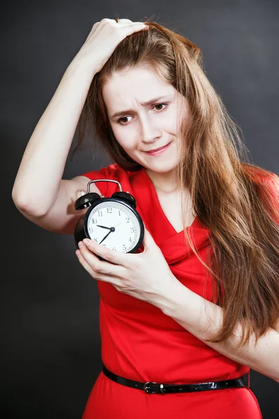
[[[186,98],[147,68],[114,73],[103,87],[103,98],[112,131],[126,153],[149,173],[171,173],[179,161],[176,131],[188,114]],[[146,153],[169,142],[156,156]]]

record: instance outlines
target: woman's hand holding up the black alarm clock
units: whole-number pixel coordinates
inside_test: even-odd
[[[87,244],[88,242],[88,244]],[[160,296],[167,296],[169,287],[177,281],[160,248],[149,231],[144,228],[144,251],[121,253],[93,240],[84,239],[76,251],[81,265],[91,277],[110,282],[116,290],[156,305]],[[100,260],[97,255],[105,260]]]

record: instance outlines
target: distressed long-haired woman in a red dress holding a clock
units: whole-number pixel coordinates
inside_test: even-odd
[[[29,140],[13,200],[73,234],[80,191],[115,179],[144,221],[138,253],[93,240],[77,251],[98,280],[103,360],[83,419],[262,418],[243,376],[252,367],[279,381],[278,177],[241,161],[199,48],[146,27],[93,25]],[[61,179],[79,118],[74,153],[94,126],[114,163]]]

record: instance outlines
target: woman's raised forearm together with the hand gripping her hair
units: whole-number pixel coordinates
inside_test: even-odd
[[[94,75],[123,38],[142,29],[142,22],[129,19],[116,23],[105,18],[93,25],[24,151],[12,192],[17,208],[37,217],[50,212],[61,191],[66,159]]]

